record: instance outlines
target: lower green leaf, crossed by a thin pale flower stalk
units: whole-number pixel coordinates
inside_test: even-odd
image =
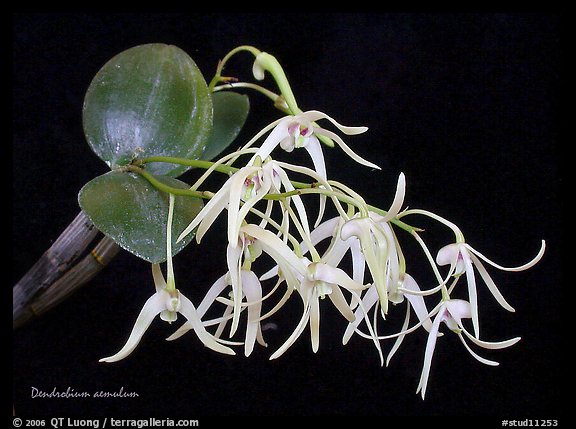
[[[156,178],[166,185],[188,189],[189,185],[165,176]],[[80,207],[96,228],[120,247],[153,263],[166,260],[168,194],[154,188],[135,173],[110,171],[92,179],[80,190]],[[180,233],[202,209],[201,199],[176,196],[172,225],[172,254],[176,255],[192,239],[176,243]]]

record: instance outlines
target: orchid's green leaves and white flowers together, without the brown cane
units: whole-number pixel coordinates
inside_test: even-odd
[[[277,92],[222,74],[239,53],[254,57],[254,78],[263,81],[269,74]],[[236,141],[248,115],[248,99],[235,92],[238,89],[268,97],[282,115],[222,155]],[[223,57],[206,83],[193,60],[174,46],[129,49],[94,78],[84,104],[84,129],[88,143],[112,171],[80,191],[80,206],[120,247],[151,264],[155,286],[124,346],[100,362],[136,353],[157,316],[174,323],[178,314],[186,320],[168,340],[192,331],[215,352],[234,355],[241,348],[249,356],[256,343],[267,346],[263,324],[296,299],[301,301],[301,317],[291,332],[283,333],[285,341],[270,359],[289,353],[305,331],[312,351],[318,351],[321,313],[334,306],[342,318],[342,343],[354,335],[368,340],[381,365],[388,365],[408,334],[427,332],[417,385],[424,398],[442,323],[486,365],[498,363],[479,356],[471,345],[500,349],[520,340],[482,338],[477,289],[485,286],[502,308],[513,312],[487,266],[526,270],[540,261],[545,242],[527,263],[503,267],[469,245],[453,222],[427,210],[406,208],[403,173],[386,208],[371,205],[351,187],[330,179],[324,147],[343,151],[358,168],[380,170],[344,141],[367,128],[342,125],[317,110],[301,110],[273,55],[240,46]],[[299,149],[307,153],[304,165],[291,156]],[[176,179],[190,169],[203,171],[194,183]],[[454,241],[430,249],[416,226],[418,217],[448,228]],[[173,257],[192,241],[202,245],[223,222],[225,263],[195,305],[185,296],[187,285],[177,287]],[[419,283],[408,272],[400,232],[420,246],[434,281]],[[387,322],[395,314],[390,309],[402,305],[402,326],[389,332]],[[391,347],[385,357],[387,341]]]

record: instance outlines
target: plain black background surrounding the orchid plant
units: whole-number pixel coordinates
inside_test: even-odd
[[[152,291],[148,264],[122,252],[56,310],[14,332],[17,413],[560,416],[560,382],[567,376],[560,331],[566,241],[561,161],[568,154],[560,136],[559,14],[19,13],[12,28],[12,284],[78,213],[82,185],[106,171],[82,131],[82,100],[92,77],[113,55],[150,42],[184,49],[207,79],[218,59],[240,44],[272,53],[303,109],[370,128],[347,141],[382,171],[333,150],[327,154],[333,178],[387,207],[403,171],[406,205],[456,222],[472,246],[502,265],[532,258],[541,239],[548,244],[544,259],[529,271],[491,270],[515,314],[480,291],[485,338],[522,341],[498,352],[480,350],[501,363],[488,367],[455,336],[441,338],[425,401],[415,394],[424,332],[408,337],[390,366],[381,368],[368,341],[341,345],[344,323],[327,311],[317,354],[306,331],[287,354],[269,361],[299,317],[296,300],[288,307],[292,315],[267,333],[268,349],[257,346],[249,358],[220,356],[191,334],[166,343],[172,328],[155,322],[128,359],[100,364],[122,345]],[[240,55],[227,71],[249,79],[250,67],[248,55]],[[278,115],[263,97],[250,96],[243,139]],[[431,225],[425,237],[448,243],[445,230]],[[214,237],[175,258],[179,287],[195,302],[224,269],[218,233]],[[426,271],[422,255],[407,246],[412,272]],[[139,397],[39,399],[31,398],[32,387],[123,387]]]

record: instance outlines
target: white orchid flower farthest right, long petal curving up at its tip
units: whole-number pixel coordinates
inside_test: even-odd
[[[483,254],[475,250],[472,246],[467,243],[452,243],[447,246],[442,247],[436,256],[436,263],[438,265],[450,265],[450,273],[455,277],[459,277],[462,274],[466,274],[466,282],[468,284],[468,299],[470,300],[471,306],[471,317],[472,325],[474,327],[474,335],[476,338],[480,336],[480,322],[478,318],[478,293],[476,288],[476,277],[474,275],[474,267],[478,270],[480,277],[486,283],[488,290],[496,301],[506,310],[514,312],[514,308],[508,304],[504,299],[498,287],[488,274],[488,271],[482,264],[481,260],[492,265],[495,268],[504,271],[523,271],[532,266],[534,266],[544,255],[544,250],[546,248],[546,243],[542,240],[540,250],[538,254],[526,264],[520,265],[518,267],[502,267],[488,258]]]

